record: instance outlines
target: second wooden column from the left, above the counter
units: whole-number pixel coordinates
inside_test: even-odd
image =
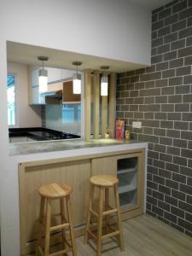
[[[94,99],[94,116],[93,116],[93,135],[94,138],[99,137],[99,105],[100,105],[100,73],[96,71],[93,77],[93,99]]]

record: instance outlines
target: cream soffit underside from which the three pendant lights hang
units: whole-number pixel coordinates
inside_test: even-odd
[[[73,67],[72,64],[73,61],[82,61],[82,65],[79,68],[80,70],[85,68],[96,70],[100,69],[101,66],[109,66],[109,71],[121,73],[146,67],[131,62],[117,61],[91,55],[83,55],[58,49],[49,49],[28,44],[19,44],[15,42],[7,43],[8,61],[32,66],[41,66],[42,62],[38,61],[38,55],[49,56],[49,61],[44,63],[45,67],[75,69],[76,67]]]

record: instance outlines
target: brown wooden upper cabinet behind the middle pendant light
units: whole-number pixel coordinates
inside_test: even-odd
[[[81,95],[73,94],[73,81],[63,83],[62,102],[80,102]]]

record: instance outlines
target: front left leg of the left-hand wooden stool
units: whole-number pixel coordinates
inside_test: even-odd
[[[46,212],[46,225],[45,225],[44,256],[49,256],[50,218],[51,218],[51,200],[48,199],[47,200],[47,212]]]

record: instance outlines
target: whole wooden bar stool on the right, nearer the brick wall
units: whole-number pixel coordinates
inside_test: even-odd
[[[120,209],[119,209],[118,183],[119,183],[118,178],[113,176],[97,175],[97,176],[90,177],[90,199],[89,199],[89,209],[87,214],[87,223],[86,223],[85,234],[84,234],[84,243],[88,242],[89,236],[95,239],[97,256],[100,256],[102,253],[102,240],[112,236],[119,236],[119,247],[121,251],[124,251],[123,231],[122,231]],[[93,199],[94,199],[95,188],[99,189],[98,211],[93,210]],[[113,209],[109,207],[109,188],[112,188],[114,192],[115,208]],[[104,195],[105,195],[105,201],[104,201]],[[104,201],[105,209],[103,209],[103,201]],[[117,216],[118,229],[112,230],[110,232],[111,229],[109,225],[109,215],[113,213],[115,213]],[[93,226],[93,224],[91,223],[92,215],[97,219],[96,235],[90,230],[91,226]],[[105,218],[106,235],[102,235],[103,218]]]

